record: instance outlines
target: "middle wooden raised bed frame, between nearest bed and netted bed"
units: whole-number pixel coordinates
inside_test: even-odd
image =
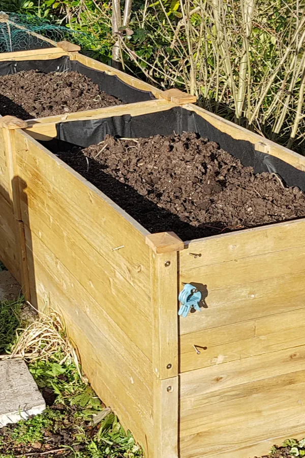
[[[47,40],[37,34],[34,34],[34,36],[38,39],[41,38],[42,43],[44,43],[44,40]],[[51,46],[52,43],[54,42],[51,40],[46,41],[47,45]],[[87,58],[78,52],[79,49],[79,46],[64,41],[54,43],[53,47],[50,48],[0,53],[0,84],[2,82],[2,76],[18,75],[19,72],[23,71],[39,70],[46,74],[50,72],[65,72],[66,74],[67,72],[74,71],[90,78],[93,83],[98,85],[100,90],[119,99],[120,105],[114,108],[117,108],[117,112],[121,113],[128,112],[129,109],[127,108],[126,111],[126,104],[130,103],[135,103],[140,106],[143,102],[149,101],[150,103],[148,103],[148,106],[150,106],[150,108],[148,109],[153,109],[154,106],[159,106],[160,103],[161,105],[166,105],[171,99],[175,100],[177,103],[181,103],[182,100],[196,100],[193,96],[189,96],[177,90],[163,92],[133,76],[115,70],[94,59]],[[49,82],[50,81],[48,81],[48,83]],[[17,85],[21,83],[22,81],[17,81]],[[24,90],[24,92],[31,91]],[[15,108],[17,108],[18,116],[20,117],[19,113],[22,113],[23,120],[33,118],[33,116],[31,117],[30,115],[26,117],[26,110],[22,107],[20,108],[19,103],[21,104],[23,102],[22,99],[17,100],[18,103],[16,107],[14,103],[10,103],[6,111],[4,106],[7,105],[7,98],[3,97],[1,94],[2,92],[0,91],[0,114],[16,116]],[[58,94],[54,94],[54,96],[56,95],[58,96]],[[41,97],[44,98],[44,96],[45,91],[42,90]],[[44,102],[41,104],[43,105]],[[100,108],[98,102],[95,103],[95,105],[97,105],[95,109],[86,109],[77,112],[63,111],[61,115],[55,117],[39,117],[33,122],[48,124],[54,119],[69,120],[82,119],[85,116],[94,117],[102,115],[104,110],[108,109],[108,107]],[[37,106],[34,106],[33,110],[37,110]],[[114,110],[113,113],[116,113],[116,110]],[[22,127],[22,125],[24,125],[24,123],[21,123],[20,127]],[[0,246],[0,259],[7,264],[18,281],[21,282],[21,261],[19,263],[17,262],[19,255],[16,251],[19,243],[18,239],[17,241],[15,240],[15,236],[12,232],[13,209],[11,203],[13,199],[11,177],[13,174],[13,164],[10,150],[10,140],[7,137],[7,133],[0,128],[0,208],[2,209],[2,219],[0,221],[0,240],[2,240],[2,245]],[[14,260],[13,263],[12,260]]]

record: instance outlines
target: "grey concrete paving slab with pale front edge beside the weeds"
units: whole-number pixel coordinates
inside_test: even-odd
[[[0,427],[42,413],[45,400],[23,360],[0,361]]]

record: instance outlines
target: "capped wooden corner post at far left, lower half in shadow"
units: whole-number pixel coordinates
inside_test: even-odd
[[[15,130],[24,129],[27,123],[14,116],[4,116],[0,118],[0,129],[3,129],[5,152],[8,164],[9,195],[12,202],[13,214],[15,219],[15,243],[19,249],[19,268],[21,276],[21,287],[25,300],[30,301],[29,278],[26,263],[26,248],[24,224],[21,218],[19,180],[15,157]]]

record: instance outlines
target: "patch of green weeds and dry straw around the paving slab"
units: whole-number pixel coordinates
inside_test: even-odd
[[[17,307],[18,305],[18,307]],[[6,303],[6,318],[20,303]],[[12,308],[14,313],[12,313]],[[16,308],[14,308],[16,307]],[[19,325],[17,320],[11,328]],[[18,338],[7,337],[11,356],[24,356],[46,400],[41,415],[0,429],[0,458],[141,458],[141,448],[107,409],[81,374],[75,351],[57,314],[42,316]],[[9,356],[8,356],[9,357]]]

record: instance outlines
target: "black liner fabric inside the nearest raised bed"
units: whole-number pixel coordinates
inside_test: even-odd
[[[254,149],[250,141],[236,140],[205,121],[194,111],[181,107],[167,111],[131,117],[130,115],[87,121],[71,121],[57,124],[57,142],[44,142],[47,148],[56,152],[64,143],[81,147],[98,144],[106,134],[138,138],[153,135],[169,135],[173,132],[197,132],[202,137],[216,141],[221,148],[240,159],[245,166],[253,166],[255,173],[279,174],[288,186],[298,186],[305,191],[305,173],[287,162]],[[69,147],[69,146],[68,146]],[[62,150],[63,151],[63,150]]]

